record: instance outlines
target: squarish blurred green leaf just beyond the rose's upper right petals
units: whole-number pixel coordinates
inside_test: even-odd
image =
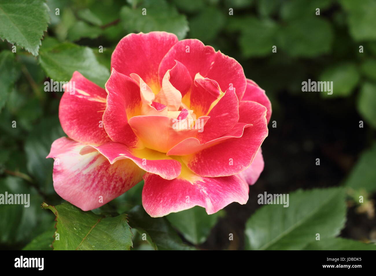
[[[272,20],[259,20],[254,17],[246,19],[243,24],[239,44],[245,57],[267,56],[272,54],[276,44],[278,25]]]

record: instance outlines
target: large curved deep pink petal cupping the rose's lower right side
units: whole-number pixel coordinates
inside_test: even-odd
[[[239,122],[252,124],[240,138],[230,138],[195,154],[182,157],[194,173],[201,176],[227,176],[249,167],[268,135],[266,107],[253,101],[239,104]]]

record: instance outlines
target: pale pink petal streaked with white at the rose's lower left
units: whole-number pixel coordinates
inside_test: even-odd
[[[80,155],[83,147],[85,145],[62,137],[52,143],[48,155],[55,158],[55,191],[71,204],[83,211],[92,210],[117,198],[141,181],[144,171],[132,160],[110,164],[99,152]]]

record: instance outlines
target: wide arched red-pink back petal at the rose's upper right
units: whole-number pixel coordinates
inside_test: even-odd
[[[205,46],[197,39],[184,39],[177,42],[159,65],[160,80],[168,69],[173,68],[175,60],[186,66],[192,79],[200,73],[204,78],[217,81],[222,91],[226,91],[232,83],[238,98],[243,97],[246,89],[243,68],[235,59],[220,51],[215,52],[213,47]]]

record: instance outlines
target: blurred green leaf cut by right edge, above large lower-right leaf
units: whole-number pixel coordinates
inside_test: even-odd
[[[376,142],[362,152],[359,160],[347,177],[345,185],[354,190],[376,191]]]

